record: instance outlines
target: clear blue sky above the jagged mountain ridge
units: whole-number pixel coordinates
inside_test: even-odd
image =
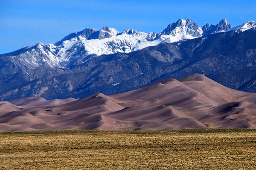
[[[91,27],[160,32],[179,18],[199,26],[222,18],[236,26],[256,20],[255,0],[0,0],[0,54],[55,43]]]

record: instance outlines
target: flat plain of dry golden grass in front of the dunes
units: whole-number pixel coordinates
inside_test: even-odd
[[[1,170],[256,169],[256,130],[0,133]]]

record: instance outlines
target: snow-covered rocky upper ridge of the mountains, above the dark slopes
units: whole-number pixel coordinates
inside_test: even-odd
[[[255,21],[249,21],[233,29],[246,30],[254,26],[256,26]],[[194,39],[207,34],[227,31],[230,28],[230,24],[225,19],[222,19],[217,25],[206,24],[202,28],[190,19],[179,19],[176,23],[169,24],[160,33],[145,33],[134,29],[125,29],[119,32],[115,28],[107,26],[100,30],[85,28],[67,35],[55,44],[38,43],[8,54],[2,54],[0,57],[8,56],[15,65],[27,70],[39,66],[69,68],[102,54],[130,53],[163,42],[172,43]]]

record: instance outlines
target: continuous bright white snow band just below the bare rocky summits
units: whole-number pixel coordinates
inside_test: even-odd
[[[161,42],[176,42],[184,39],[192,39],[190,35],[160,35],[156,38],[154,33],[137,32],[134,34],[125,34],[104,38],[87,40],[84,37],[77,37],[71,40],[66,40],[62,43],[57,57],[60,60],[60,67],[67,67],[72,59],[75,63],[83,63],[86,56],[100,56],[102,54],[113,53],[130,53],[148,46],[158,45]],[[82,54],[82,55],[81,55]]]

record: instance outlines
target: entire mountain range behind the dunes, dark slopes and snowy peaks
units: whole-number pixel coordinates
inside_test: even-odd
[[[83,98],[116,94],[201,73],[242,91],[256,91],[256,22],[231,28],[179,19],[160,33],[86,28],[55,44],[0,55],[0,99]]]

